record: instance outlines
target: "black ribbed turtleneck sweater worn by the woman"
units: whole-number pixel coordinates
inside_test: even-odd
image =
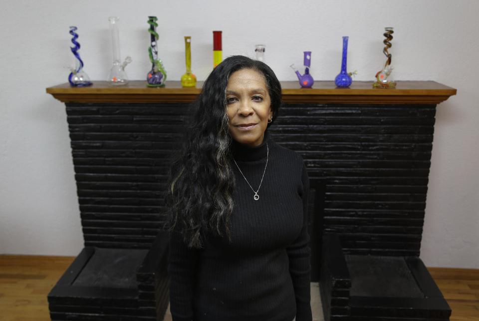
[[[234,141],[232,240],[207,238],[188,248],[171,234],[168,273],[173,321],[311,321],[309,179],[301,155],[276,144]]]

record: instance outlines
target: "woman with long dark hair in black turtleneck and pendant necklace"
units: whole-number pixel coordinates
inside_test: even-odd
[[[309,179],[267,128],[281,85],[232,56],[203,85],[166,196],[173,321],[311,321]]]

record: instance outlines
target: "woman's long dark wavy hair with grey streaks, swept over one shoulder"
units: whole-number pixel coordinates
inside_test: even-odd
[[[281,85],[265,63],[245,56],[230,56],[208,76],[192,104],[184,142],[173,155],[165,195],[165,229],[182,234],[190,248],[202,248],[207,234],[231,242],[230,218],[236,187],[231,167],[226,88],[232,73],[253,69],[264,76],[271,98],[273,120],[281,105]]]

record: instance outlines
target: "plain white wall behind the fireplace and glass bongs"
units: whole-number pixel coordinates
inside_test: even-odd
[[[286,4],[287,3],[287,4]],[[108,16],[120,17],[130,79],[144,79],[148,15],[159,17],[160,57],[169,80],[185,72],[184,35],[193,72],[212,68],[212,30],[223,30],[224,57],[253,56],[280,80],[312,51],[311,73],[332,80],[341,36],[348,69],[372,80],[383,65],[383,28],[395,29],[394,77],[435,80],[458,89],[438,105],[421,258],[431,267],[479,268],[479,1],[3,1],[0,10],[0,253],[77,255],[82,234],[64,105],[45,88],[67,81],[78,26],[84,70],[104,80],[111,65]]]

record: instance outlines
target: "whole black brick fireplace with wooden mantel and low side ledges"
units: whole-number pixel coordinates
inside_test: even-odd
[[[271,137],[308,168],[312,281],[326,320],[449,320],[419,259],[436,105],[456,90],[283,82]],[[48,295],[52,320],[163,320],[168,158],[199,89],[47,88],[65,102],[85,248]],[[96,319],[95,319],[96,318]]]

